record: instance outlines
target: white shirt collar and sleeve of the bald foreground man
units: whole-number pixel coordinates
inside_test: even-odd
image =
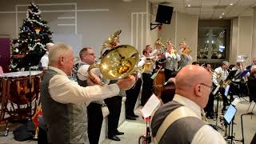
[[[175,94],[173,101],[179,102],[182,105],[190,108],[197,114],[198,118],[201,118],[201,108],[195,102],[191,101],[188,98],[182,97],[181,95]],[[222,137],[218,131],[214,130],[209,125],[202,126],[196,134],[194,134],[194,138],[192,139],[191,144],[226,144],[225,139]]]

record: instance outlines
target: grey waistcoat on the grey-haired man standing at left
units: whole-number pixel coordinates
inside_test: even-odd
[[[50,97],[50,78],[58,74],[48,70],[41,83],[42,114],[48,128],[47,137],[52,144],[89,143],[87,113],[84,103],[59,103]],[[70,95],[72,97],[72,95]]]

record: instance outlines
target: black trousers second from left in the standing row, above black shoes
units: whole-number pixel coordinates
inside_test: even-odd
[[[106,102],[106,106],[110,110],[110,114],[108,115],[108,137],[113,137],[116,135],[118,130],[118,122],[121,113],[122,107],[122,97],[115,96],[112,98],[106,98],[104,100]]]

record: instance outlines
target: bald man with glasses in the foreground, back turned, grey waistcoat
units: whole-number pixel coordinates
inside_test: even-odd
[[[152,119],[154,143],[226,143],[222,135],[201,118],[211,84],[210,73],[201,66],[187,65],[178,72],[173,101],[161,106]]]

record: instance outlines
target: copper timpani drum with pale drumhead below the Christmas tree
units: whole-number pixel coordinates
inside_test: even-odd
[[[30,101],[33,102],[34,99],[38,99],[42,71],[11,72],[0,75],[0,78],[2,82],[4,82],[3,80],[8,81],[8,85],[2,87],[6,87],[6,94],[4,95],[13,107],[12,112],[19,113],[22,105],[30,104]],[[10,113],[10,110],[6,111]]]

